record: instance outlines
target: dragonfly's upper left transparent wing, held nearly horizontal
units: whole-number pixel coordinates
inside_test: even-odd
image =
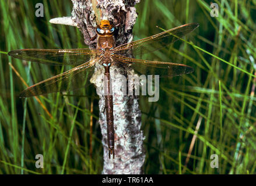
[[[97,49],[19,49],[8,55],[48,65],[80,65],[99,53]]]

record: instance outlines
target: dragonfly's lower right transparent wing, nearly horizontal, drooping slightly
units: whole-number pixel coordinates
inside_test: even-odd
[[[143,59],[127,58],[120,55],[113,55],[113,58],[118,62],[131,63],[132,69],[134,69],[136,73],[145,75],[173,77],[192,73],[194,71],[192,67],[179,63],[156,62]]]

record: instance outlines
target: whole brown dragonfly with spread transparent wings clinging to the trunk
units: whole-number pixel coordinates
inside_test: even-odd
[[[199,24],[197,23],[184,24],[183,26],[116,47],[114,39],[115,26],[108,20],[101,20],[100,24],[95,28],[97,36],[96,49],[19,49],[10,51],[8,55],[13,58],[45,63],[47,65],[78,65],[71,70],[32,85],[24,90],[20,97],[82,88],[84,86],[82,82],[88,77],[88,73],[93,73],[93,66],[96,63],[103,65],[104,75],[107,77],[105,87],[107,95],[104,96],[107,118],[108,156],[110,158],[110,155],[113,155],[114,159],[114,116],[113,95],[110,95],[110,67],[117,65],[117,63],[129,63],[138,73],[152,74],[152,69],[154,69],[155,74],[167,77],[191,73],[193,69],[187,65],[128,58],[124,54],[128,51],[132,51],[134,55],[156,51],[177,41],[198,26]]]

